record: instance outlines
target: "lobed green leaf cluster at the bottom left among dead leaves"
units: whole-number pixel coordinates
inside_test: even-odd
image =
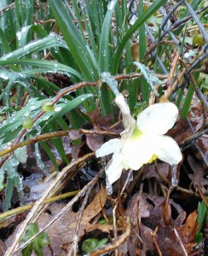
[[[28,241],[32,236],[38,233],[38,224],[32,223],[29,224],[25,236],[22,237],[21,241]],[[32,251],[36,253],[38,256],[43,256],[43,247],[47,247],[49,245],[49,236],[42,232],[35,239],[33,239],[25,248],[21,250],[23,256],[30,256]]]

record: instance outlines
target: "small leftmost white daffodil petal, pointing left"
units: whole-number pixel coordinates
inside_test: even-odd
[[[121,148],[122,143],[120,139],[115,138],[112,140],[109,140],[107,143],[104,143],[101,148],[97,149],[95,152],[96,157],[101,157],[107,154],[112,154],[116,150],[119,150]]]

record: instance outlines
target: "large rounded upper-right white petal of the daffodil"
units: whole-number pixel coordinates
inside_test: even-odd
[[[177,115],[178,109],[173,103],[156,103],[138,115],[136,125],[142,132],[162,135],[175,124]]]

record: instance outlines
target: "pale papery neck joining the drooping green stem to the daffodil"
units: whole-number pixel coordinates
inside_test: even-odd
[[[130,114],[129,105],[125,102],[124,96],[121,93],[116,96],[115,102],[122,113],[125,131],[128,133],[132,133],[135,128],[136,120],[133,119]]]

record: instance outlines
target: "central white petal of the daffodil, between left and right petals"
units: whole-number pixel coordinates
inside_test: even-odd
[[[151,160],[154,153],[152,141],[152,137],[146,135],[126,139],[122,148],[125,169],[138,170]]]

